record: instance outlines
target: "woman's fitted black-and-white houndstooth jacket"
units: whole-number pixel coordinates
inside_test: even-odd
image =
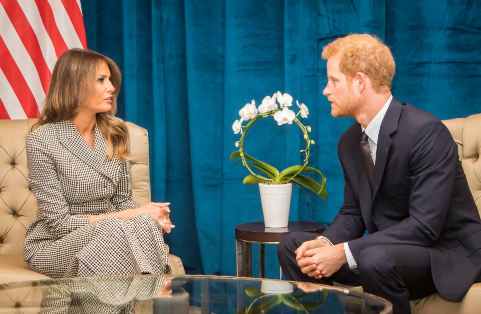
[[[118,119],[118,118],[115,118]],[[137,208],[129,161],[108,160],[95,124],[91,150],[72,121],[39,126],[27,136],[28,181],[37,219],[27,230],[24,258],[89,223],[89,215]]]

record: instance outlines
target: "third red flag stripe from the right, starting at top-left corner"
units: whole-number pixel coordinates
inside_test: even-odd
[[[14,26],[17,34],[20,37],[20,40],[22,40],[22,43],[24,44],[25,49],[27,49],[30,58],[32,58],[35,68],[37,68],[37,72],[39,73],[42,88],[44,89],[44,92],[47,93],[52,73],[50,73],[47,62],[45,62],[42,50],[40,49],[39,41],[37,39],[37,36],[35,35],[34,30],[30,26],[30,23],[27,20],[27,17],[25,16],[18,2],[0,0],[0,3],[4,6],[4,9],[9,16],[12,25]]]

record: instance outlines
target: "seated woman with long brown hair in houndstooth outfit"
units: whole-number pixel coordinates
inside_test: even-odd
[[[114,117],[115,62],[84,49],[57,61],[39,122],[27,137],[38,201],[27,230],[29,267],[52,277],[170,273],[169,203],[132,200],[129,137]]]

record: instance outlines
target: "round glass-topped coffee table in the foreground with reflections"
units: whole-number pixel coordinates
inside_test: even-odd
[[[355,290],[223,276],[105,276],[0,285],[0,312],[391,313],[387,300]]]

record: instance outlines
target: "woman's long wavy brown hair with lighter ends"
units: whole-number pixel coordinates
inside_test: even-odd
[[[97,126],[107,139],[107,156],[129,160],[129,133],[121,120],[112,119],[117,111],[117,95],[121,75],[115,62],[98,52],[88,49],[70,49],[60,56],[52,72],[52,80],[44,100],[39,121],[32,129],[46,123],[74,119],[94,94],[99,66],[109,67],[111,82],[115,87],[110,112],[97,113]]]

